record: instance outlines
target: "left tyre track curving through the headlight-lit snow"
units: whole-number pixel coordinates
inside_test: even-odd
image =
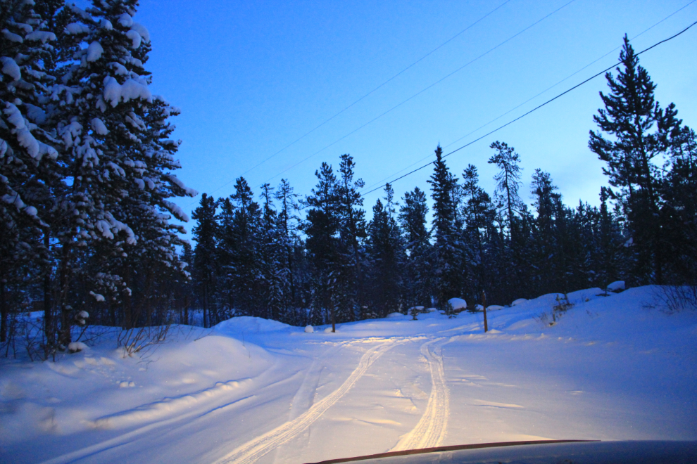
[[[372,347],[365,352],[363,356],[358,361],[358,366],[353,370],[351,375],[341,384],[341,387],[334,390],[334,392],[327,395],[327,397],[321,399],[320,401],[313,404],[311,408],[305,413],[290,420],[279,427],[276,427],[270,432],[257,437],[241,446],[234,449],[231,453],[215,461],[215,464],[251,464],[254,463],[258,458],[264,456],[266,453],[276,449],[278,446],[289,442],[294,439],[298,434],[306,430],[310,425],[312,425],[315,420],[318,420],[322,414],[327,411],[331,406],[337,403],[341,397],[344,397],[348,390],[356,385],[356,382],[363,377],[365,371],[375,363],[380,356],[385,354],[389,349],[394,347],[398,343],[406,342],[407,340],[401,340],[395,342],[394,340],[388,340],[385,343],[379,344],[377,347]]]

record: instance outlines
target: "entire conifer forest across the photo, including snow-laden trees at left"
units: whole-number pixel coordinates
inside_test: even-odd
[[[308,195],[287,180],[256,195],[237,179],[202,195],[194,249],[170,201],[177,108],[153,96],[136,0],[0,0],[0,342],[47,358],[86,325],[212,326],[235,315],[295,325],[448,313],[517,297],[629,285],[697,285],[697,136],[625,38],[589,148],[606,162],[600,206],[563,204],[550,174],[522,200],[520,155],[491,144],[496,190],[441,148],[428,186],[372,205],[350,155],[322,163]],[[429,220],[429,218],[432,218]],[[23,318],[42,311],[38,318]],[[38,328],[38,330],[37,330]]]

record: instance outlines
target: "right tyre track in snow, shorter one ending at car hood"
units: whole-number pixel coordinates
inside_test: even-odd
[[[439,446],[448,430],[448,415],[450,415],[450,392],[445,382],[443,368],[443,356],[441,346],[434,347],[442,338],[431,340],[421,345],[421,354],[428,361],[431,370],[431,394],[428,398],[426,411],[421,416],[419,423],[408,434],[404,435],[396,446],[390,451],[403,451],[407,449],[434,448]]]

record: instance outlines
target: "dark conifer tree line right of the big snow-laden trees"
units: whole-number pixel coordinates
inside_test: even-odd
[[[230,197],[203,195],[187,250],[203,324],[234,315],[291,324],[384,317],[448,299],[506,304],[548,292],[629,285],[697,284],[697,138],[625,37],[617,75],[608,73],[589,148],[610,187],[600,206],[563,204],[550,174],[532,174],[532,210],[522,200],[520,155],[496,141],[496,190],[477,167],[453,173],[440,147],[426,189],[394,198],[389,184],[367,220],[355,163],[326,162],[300,198],[287,180],[265,184],[256,202],[244,178]],[[430,201],[429,201],[430,197]],[[432,220],[429,221],[429,211]],[[302,217],[301,217],[302,216]]]

